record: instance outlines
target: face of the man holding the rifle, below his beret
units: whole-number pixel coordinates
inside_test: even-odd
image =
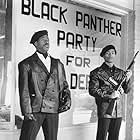
[[[104,58],[105,62],[113,63],[115,56],[116,56],[115,50],[110,49],[110,50],[106,51],[103,58]]]

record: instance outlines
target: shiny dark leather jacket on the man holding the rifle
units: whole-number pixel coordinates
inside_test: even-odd
[[[109,68],[108,65],[103,63],[100,67],[92,70],[90,72],[89,80],[89,94],[95,97],[97,105],[97,115],[99,118],[106,117],[106,110],[111,101],[110,98],[104,96],[104,94],[111,94],[115,89],[112,84],[110,84],[107,79],[112,77],[117,83],[120,83],[124,75],[124,71],[113,65]],[[130,81],[124,81],[122,88],[124,93],[128,93],[130,90]],[[111,118],[122,117],[123,115],[123,95],[120,99],[116,99],[116,107]]]

